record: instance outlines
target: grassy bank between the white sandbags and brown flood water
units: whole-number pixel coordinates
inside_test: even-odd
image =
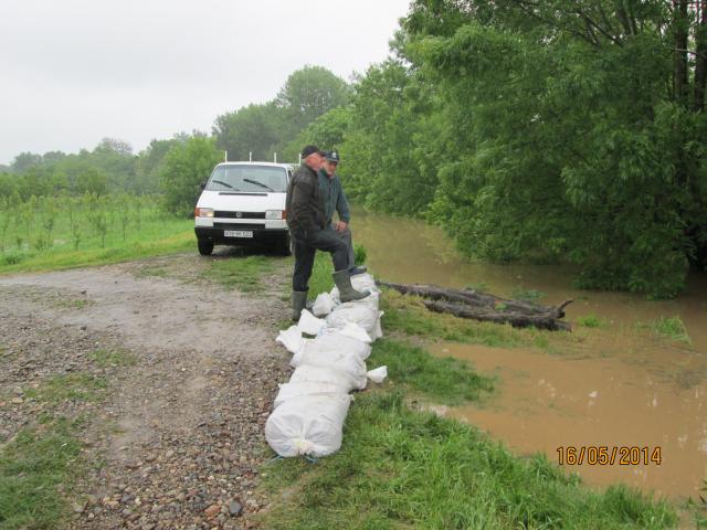
[[[325,258],[316,267],[321,276],[329,273]],[[665,500],[624,486],[594,490],[544,455],[514,456],[477,427],[433,412],[493,395],[494,381],[464,361],[432,356],[415,346],[421,338],[549,347],[574,340],[568,333],[431,315],[390,292],[381,308],[387,338],[369,363],[388,364],[389,380],[357,394],[339,453],[265,466],[272,502],[257,518],[264,528],[675,527]]]

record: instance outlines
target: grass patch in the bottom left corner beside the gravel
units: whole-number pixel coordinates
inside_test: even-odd
[[[0,528],[65,526],[65,494],[81,468],[78,428],[77,422],[53,420],[23,428],[0,449]]]

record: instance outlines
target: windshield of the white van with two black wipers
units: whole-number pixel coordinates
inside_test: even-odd
[[[209,191],[287,191],[287,170],[271,166],[219,166],[213,170]]]

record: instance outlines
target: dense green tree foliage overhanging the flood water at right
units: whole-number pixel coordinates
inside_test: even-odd
[[[339,136],[325,116],[302,138],[337,138],[351,195],[425,215],[468,255],[673,296],[707,265],[706,12],[418,0]]]

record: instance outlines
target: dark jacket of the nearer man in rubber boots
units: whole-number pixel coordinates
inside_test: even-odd
[[[287,225],[294,233],[324,230],[326,216],[319,191],[319,177],[303,163],[287,187]]]

